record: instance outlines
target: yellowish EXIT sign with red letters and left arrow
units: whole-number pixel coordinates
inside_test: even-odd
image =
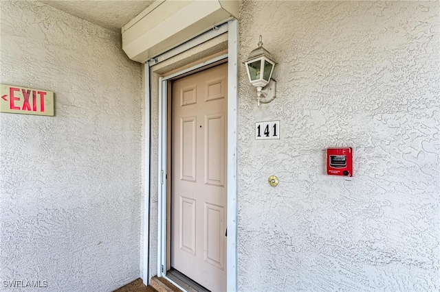
[[[0,84],[0,112],[54,115],[54,93],[42,89]]]

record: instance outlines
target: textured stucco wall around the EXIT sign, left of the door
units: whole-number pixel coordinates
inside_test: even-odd
[[[140,276],[141,66],[120,34],[39,2],[0,5],[1,83],[52,90],[56,110],[0,114],[0,289],[112,291]]]

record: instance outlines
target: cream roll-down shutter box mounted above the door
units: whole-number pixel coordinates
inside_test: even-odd
[[[122,27],[122,49],[131,60],[146,62],[212,27],[238,18],[238,14],[236,0],[158,1]]]

